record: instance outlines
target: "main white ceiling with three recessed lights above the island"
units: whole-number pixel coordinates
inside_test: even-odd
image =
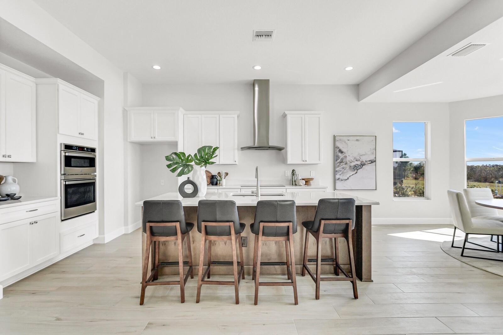
[[[143,83],[269,78],[304,84],[358,84],[468,3],[34,1]],[[254,29],[276,29],[275,40],[253,42]],[[162,69],[152,69],[153,64]],[[262,70],[252,68],[257,64]]]

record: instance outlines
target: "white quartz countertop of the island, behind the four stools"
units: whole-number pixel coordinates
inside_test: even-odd
[[[316,206],[323,198],[353,198],[356,205],[379,205],[379,202],[361,197],[351,196],[342,192],[287,192],[285,196],[242,197],[232,196],[239,193],[207,193],[205,197],[183,198],[178,192],[164,193],[145,200],[180,200],[183,206],[197,206],[199,200],[234,200],[237,206],[256,206],[259,200],[295,200],[297,206]],[[138,201],[136,206],[143,206]]]

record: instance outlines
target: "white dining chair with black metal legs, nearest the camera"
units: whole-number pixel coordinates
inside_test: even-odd
[[[503,261],[496,260],[491,258],[484,257],[476,257],[476,256],[466,256],[464,255],[465,249],[469,250],[479,250],[486,251],[490,253],[499,253],[499,247],[496,249],[492,249],[490,247],[477,244],[471,241],[468,241],[468,235],[496,235],[497,244],[499,245],[499,236],[503,235],[503,225],[501,222],[497,220],[490,219],[480,219],[480,218],[472,218],[470,209],[468,207],[468,203],[466,202],[465,196],[462,192],[456,190],[448,190],[447,196],[449,197],[449,205],[451,207],[451,215],[454,221],[454,234],[452,236],[452,247],[461,248],[461,256],[470,257],[470,258],[478,258],[482,260],[491,260],[491,261]],[[454,246],[454,237],[456,235],[456,229],[460,229],[465,233],[465,238],[463,241],[463,246]],[[487,250],[481,250],[478,248],[470,248],[466,246],[466,243],[472,243],[475,245],[479,245],[481,247],[486,248]]]

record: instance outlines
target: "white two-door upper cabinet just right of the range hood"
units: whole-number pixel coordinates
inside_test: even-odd
[[[321,163],[321,112],[285,112],[287,164]]]

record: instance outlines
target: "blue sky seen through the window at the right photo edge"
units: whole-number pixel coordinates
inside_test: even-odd
[[[503,157],[503,117],[467,120],[465,132],[467,158]]]

